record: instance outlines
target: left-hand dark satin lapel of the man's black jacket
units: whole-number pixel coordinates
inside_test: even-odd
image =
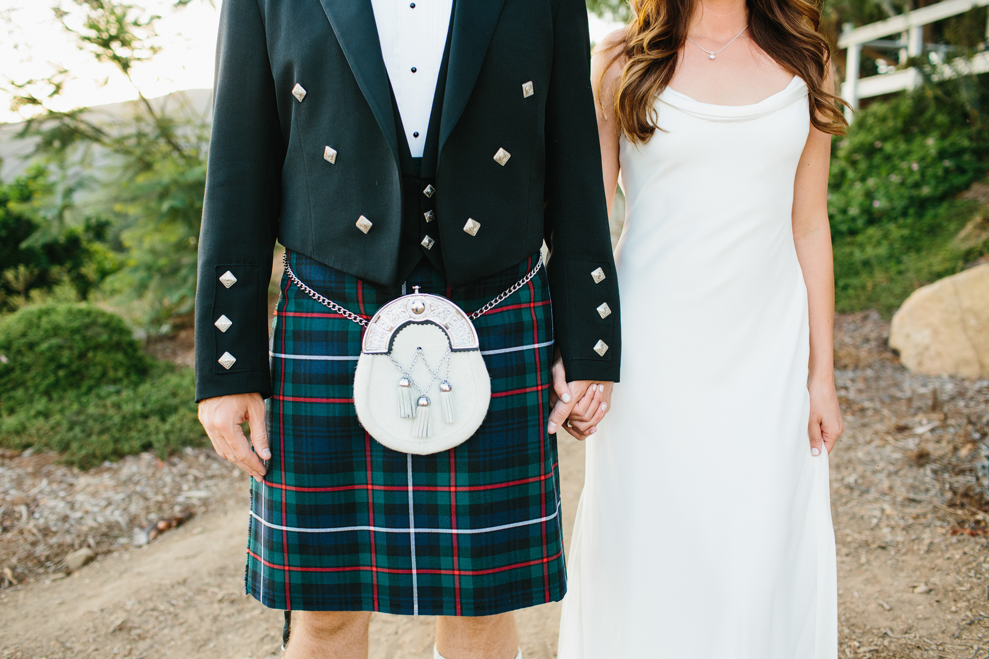
[[[326,18],[333,27],[336,41],[343,49],[347,62],[371,112],[374,113],[385,139],[399,161],[399,139],[395,115],[392,112],[391,87],[388,70],[381,54],[378,25],[375,23],[371,0],[319,0]],[[490,38],[489,38],[490,39]]]

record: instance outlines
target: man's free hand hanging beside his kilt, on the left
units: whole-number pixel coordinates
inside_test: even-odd
[[[260,394],[208,398],[199,404],[199,421],[206,428],[217,453],[246,471],[255,481],[260,483],[264,479],[267,470],[261,459],[270,460],[271,450],[268,449],[268,428]],[[250,424],[250,442],[240,429],[244,422]],[[251,443],[256,453],[251,451]]]

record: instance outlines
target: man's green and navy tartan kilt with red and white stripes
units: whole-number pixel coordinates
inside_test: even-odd
[[[525,276],[538,254],[451,291],[423,259],[407,290],[467,313]],[[389,291],[290,252],[303,282],[370,319]],[[545,268],[475,322],[491,408],[456,448],[411,455],[357,420],[363,328],[287,276],[275,312],[267,401],[272,459],[251,481],[245,587],[266,607],[491,615],[566,592],[556,437],[546,431],[553,322]]]

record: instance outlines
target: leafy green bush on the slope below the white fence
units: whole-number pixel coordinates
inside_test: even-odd
[[[984,252],[954,236],[978,206],[958,193],[989,171],[986,101],[986,76],[929,81],[870,104],[836,140],[828,206],[838,311],[889,316]]]

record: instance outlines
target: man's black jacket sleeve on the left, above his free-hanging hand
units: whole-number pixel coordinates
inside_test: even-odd
[[[257,0],[225,0],[196,291],[196,400],[272,395],[268,282],[285,147]]]

